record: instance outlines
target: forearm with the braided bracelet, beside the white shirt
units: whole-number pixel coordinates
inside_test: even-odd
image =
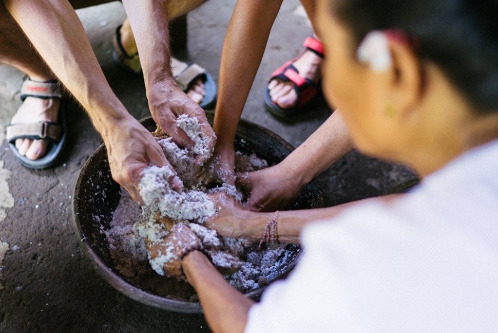
[[[279,211],[277,215],[277,234],[280,243],[298,244],[303,227],[316,220],[330,219],[341,214],[345,210],[351,209],[366,202],[378,202],[378,204],[389,204],[403,194],[391,194],[381,197],[367,198],[346,204],[315,209],[303,209],[294,211]],[[240,237],[250,238],[259,241],[265,230],[266,223],[270,221],[274,213],[252,212],[247,223],[242,224],[243,229]]]

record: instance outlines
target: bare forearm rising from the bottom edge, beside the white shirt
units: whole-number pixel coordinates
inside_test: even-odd
[[[242,332],[254,302],[237,291],[199,251],[182,261],[187,281],[197,291],[204,316],[214,332]]]

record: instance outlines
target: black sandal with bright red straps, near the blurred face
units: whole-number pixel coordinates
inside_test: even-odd
[[[314,37],[308,37],[304,40],[303,46],[306,50],[310,50],[317,54],[320,58],[323,58],[324,49],[323,44]],[[305,79],[299,76],[299,71],[293,65],[293,63],[301,57],[304,51],[299,54],[296,58],[289,60],[284,63],[281,67],[276,69],[268,81],[269,83],[274,79],[279,79],[282,81],[292,82],[294,90],[297,94],[297,103],[295,106],[290,108],[282,108],[272,101],[270,96],[270,89],[266,86],[264,91],[264,104],[266,109],[274,116],[285,118],[288,116],[299,114],[306,104],[310,102],[318,93],[321,91],[320,84],[315,84],[310,79]]]

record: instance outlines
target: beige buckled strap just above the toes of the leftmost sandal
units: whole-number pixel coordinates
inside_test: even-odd
[[[58,142],[61,139],[62,126],[58,123],[43,121],[27,124],[12,124],[7,126],[7,140],[16,139],[48,140]]]

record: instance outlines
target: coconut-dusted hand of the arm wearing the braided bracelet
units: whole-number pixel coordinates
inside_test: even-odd
[[[209,194],[209,198],[213,200],[217,212],[207,219],[204,226],[224,237],[246,238],[248,235],[244,227],[248,225],[251,211],[244,209],[224,192]]]

